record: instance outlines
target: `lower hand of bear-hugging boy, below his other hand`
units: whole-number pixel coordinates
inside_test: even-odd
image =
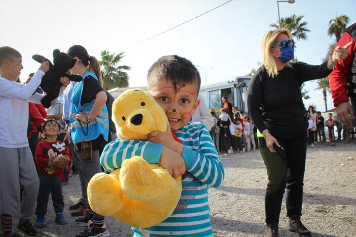
[[[162,150],[160,165],[167,169],[173,178],[185,173],[185,162],[183,158],[169,148],[164,148]]]

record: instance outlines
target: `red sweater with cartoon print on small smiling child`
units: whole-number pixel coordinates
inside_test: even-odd
[[[70,159],[70,164],[72,158],[70,157],[68,147],[59,140],[52,142],[42,140],[38,143],[36,153],[34,155],[34,163],[37,166],[38,172],[48,175],[59,175],[61,176],[62,182],[64,182],[65,178],[63,175],[63,169],[56,167],[55,172],[53,173],[53,171],[48,168],[48,162],[50,160],[49,154],[54,154],[54,156],[67,155]]]

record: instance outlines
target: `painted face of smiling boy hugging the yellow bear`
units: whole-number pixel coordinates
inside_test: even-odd
[[[165,110],[172,131],[185,126],[200,104],[196,100],[196,84],[177,85],[175,90],[172,81],[161,79],[149,92]]]

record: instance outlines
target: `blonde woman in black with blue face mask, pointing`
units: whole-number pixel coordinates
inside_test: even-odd
[[[289,30],[268,31],[262,39],[263,65],[252,77],[249,114],[260,131],[259,148],[267,168],[265,236],[279,236],[278,223],[285,188],[289,229],[301,236],[311,232],[301,223],[307,121],[300,85],[328,76],[333,64],[345,58],[334,52],[327,62],[313,66],[290,62],[293,40]]]

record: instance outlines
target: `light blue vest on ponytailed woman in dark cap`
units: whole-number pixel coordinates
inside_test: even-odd
[[[94,99],[90,103],[84,104],[83,106],[81,105],[84,80],[87,78],[87,76],[92,76],[96,80],[98,80],[98,78],[93,72],[87,71],[83,75],[83,80],[81,82],[78,82],[74,86],[72,97],[70,100],[70,135],[74,143],[80,143],[81,141],[96,139],[100,136],[100,134],[103,134],[104,139],[107,141],[109,135],[109,117],[106,104],[104,105],[100,113],[89,124],[85,124],[75,119],[75,115],[78,112],[89,114],[95,102]]]

